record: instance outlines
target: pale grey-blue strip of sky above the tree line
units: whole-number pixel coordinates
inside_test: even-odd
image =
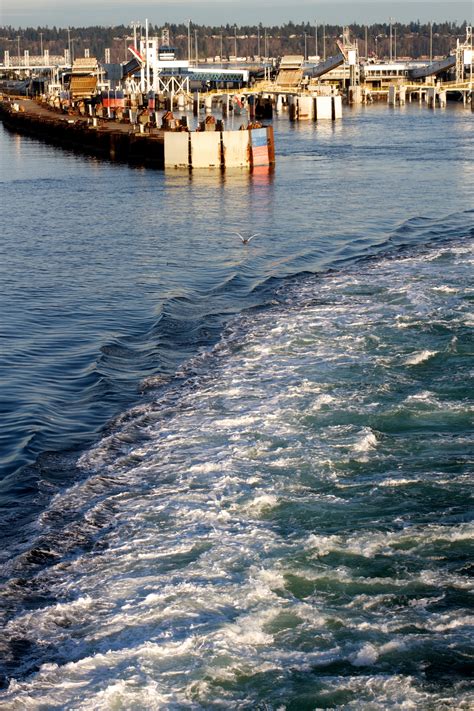
[[[0,25],[13,27],[129,24],[148,18],[153,24],[255,24],[264,26],[310,21],[372,24],[420,20],[471,23],[474,0],[0,0]]]

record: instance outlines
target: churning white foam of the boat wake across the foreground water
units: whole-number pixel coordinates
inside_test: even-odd
[[[7,703],[252,708],[239,685],[246,675],[267,674],[283,690],[291,675],[319,667],[323,691],[347,692],[348,710],[436,707],[434,691],[390,675],[391,658],[428,636],[455,648],[465,634],[467,611],[434,609],[469,580],[437,556],[466,545],[472,527],[411,517],[401,487],[460,479],[422,471],[416,452],[391,449],[374,424],[384,392],[390,404],[397,395],[386,377],[393,373],[379,372],[383,364],[399,375],[397,323],[415,330],[443,301],[420,268],[419,259],[396,269],[382,263],[376,298],[364,291],[369,268],[297,286],[291,313],[276,307],[236,319],[228,341],[183,368],[189,381],[118,418],[81,458],[84,480],[60,492],[38,523],[42,535],[55,514],[76,512],[84,526],[110,507],[107,525],[93,531],[97,547],[78,547],[38,579],[52,599],[75,601],[8,625],[12,638],[38,648],[39,664],[56,649],[70,661],[35,675],[20,668],[24,681],[12,682]],[[315,295],[327,303],[313,304]],[[416,365],[436,352],[404,358]],[[405,402],[431,407],[437,384],[429,387]],[[371,513],[378,496],[402,503]],[[383,562],[390,570],[380,570]],[[324,677],[334,661],[352,663],[354,676]],[[372,673],[379,664],[383,674]],[[449,693],[464,703],[464,692]]]

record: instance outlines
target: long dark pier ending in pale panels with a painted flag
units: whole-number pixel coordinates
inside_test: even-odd
[[[136,113],[136,112],[129,112]],[[138,117],[134,117],[138,118]],[[258,123],[225,130],[213,116],[189,131],[186,117],[167,111],[158,125],[130,123],[72,111],[64,115],[32,99],[0,101],[0,119],[18,133],[98,158],[151,168],[270,168],[275,162],[273,129]]]

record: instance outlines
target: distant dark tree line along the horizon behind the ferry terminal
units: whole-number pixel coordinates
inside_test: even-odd
[[[186,59],[188,46],[191,46],[191,56],[197,54],[200,58],[234,55],[249,57],[257,54],[279,57],[284,54],[306,54],[308,56],[327,56],[337,51],[336,40],[343,32],[341,25],[318,25],[309,22],[284,25],[195,25],[166,24],[149,26],[151,36],[161,37],[162,31],[169,31],[170,44],[176,48],[177,57]],[[390,25],[387,23],[373,25],[349,26],[351,38],[358,41],[361,56],[390,56]],[[453,22],[438,22],[431,26],[427,23],[410,22],[392,25],[392,57],[426,57],[445,56],[455,46],[456,40],[464,40],[466,23],[461,25]],[[140,32],[140,29],[137,30]],[[141,29],[144,32],[144,28]],[[73,57],[83,57],[84,51],[103,60],[105,49],[109,48],[112,62],[121,62],[130,58],[127,46],[131,44],[133,30],[128,25],[115,27],[0,27],[0,61],[3,52],[8,50],[11,57],[23,56],[25,50],[30,55],[39,55],[41,48],[49,50],[50,55],[64,55],[64,50],[70,48]],[[190,39],[190,43],[188,43]],[[128,54],[128,57],[127,57]]]

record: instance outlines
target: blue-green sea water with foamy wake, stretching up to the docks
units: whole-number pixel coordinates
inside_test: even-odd
[[[474,704],[472,115],[275,130],[225,177],[0,134],[6,709]]]

